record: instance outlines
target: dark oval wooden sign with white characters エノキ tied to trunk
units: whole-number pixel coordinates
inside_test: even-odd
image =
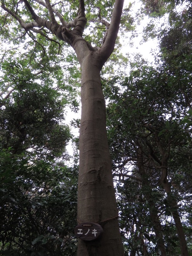
[[[97,239],[103,234],[102,227],[93,222],[84,222],[75,227],[75,235],[85,241]]]

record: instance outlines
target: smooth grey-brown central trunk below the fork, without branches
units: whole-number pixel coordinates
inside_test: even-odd
[[[124,255],[124,250],[118,225],[98,58],[97,53],[91,52],[81,64],[82,115],[77,220],[79,223],[98,223],[104,232],[96,241],[79,239],[77,255],[120,256]]]

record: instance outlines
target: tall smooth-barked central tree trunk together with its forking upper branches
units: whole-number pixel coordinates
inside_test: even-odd
[[[99,240],[85,242],[79,239],[78,256],[124,255],[118,225],[118,212],[112,179],[111,160],[106,132],[106,108],[101,90],[100,70],[114,50],[121,21],[124,0],[116,0],[110,26],[106,28],[103,45],[96,51],[83,38],[86,25],[84,0],[79,0],[78,17],[73,29],[60,15],[59,24],[49,0],[42,2],[48,9],[49,20],[39,17],[28,0],[23,0],[35,22],[26,24],[15,12],[1,4],[26,31],[32,29],[42,34],[47,28],[60,40],[67,42],[76,52],[82,69],[82,116],[79,138],[79,180],[77,220],[99,223],[104,232]],[[57,11],[58,12],[58,11]],[[109,24],[108,24],[109,25]],[[46,36],[47,37],[47,36]],[[47,37],[48,38],[48,37]]]

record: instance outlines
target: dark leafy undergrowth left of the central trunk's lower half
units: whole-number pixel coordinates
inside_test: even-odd
[[[1,255],[76,255],[77,169],[8,151],[1,159]]]

